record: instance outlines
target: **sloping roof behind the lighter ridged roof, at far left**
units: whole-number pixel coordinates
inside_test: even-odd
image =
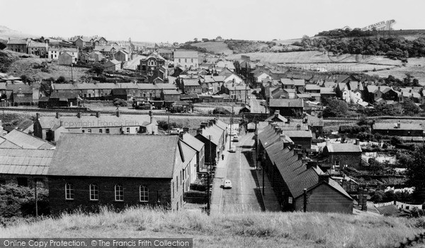
[[[23,133],[19,130],[12,130],[7,135],[4,135],[4,138],[14,144],[26,148],[26,149],[53,149],[55,145],[52,145],[46,140],[42,140],[39,137],[33,135],[28,135],[28,133]]]

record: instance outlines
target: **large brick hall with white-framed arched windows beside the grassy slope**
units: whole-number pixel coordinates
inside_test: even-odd
[[[196,150],[176,135],[65,134],[47,173],[50,210],[101,205],[179,210],[195,181],[195,164]]]

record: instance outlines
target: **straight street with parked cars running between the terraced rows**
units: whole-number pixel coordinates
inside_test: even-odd
[[[227,154],[227,164],[225,165],[225,177],[220,181],[229,179],[232,181],[232,188],[215,189],[220,195],[215,196],[215,204],[218,205],[219,213],[246,211],[261,211],[263,201],[259,188],[259,181],[256,178],[255,164],[252,159],[254,147],[254,133],[239,135],[239,142],[232,142],[237,149],[234,153]]]

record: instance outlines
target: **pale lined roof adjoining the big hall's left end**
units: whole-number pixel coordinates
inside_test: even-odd
[[[0,148],[0,174],[46,175],[54,152]]]

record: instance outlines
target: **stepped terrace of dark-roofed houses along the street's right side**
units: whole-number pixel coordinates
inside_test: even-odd
[[[300,146],[294,147],[291,130],[284,129],[266,125],[256,135],[257,156],[282,210],[352,213],[353,198]]]

